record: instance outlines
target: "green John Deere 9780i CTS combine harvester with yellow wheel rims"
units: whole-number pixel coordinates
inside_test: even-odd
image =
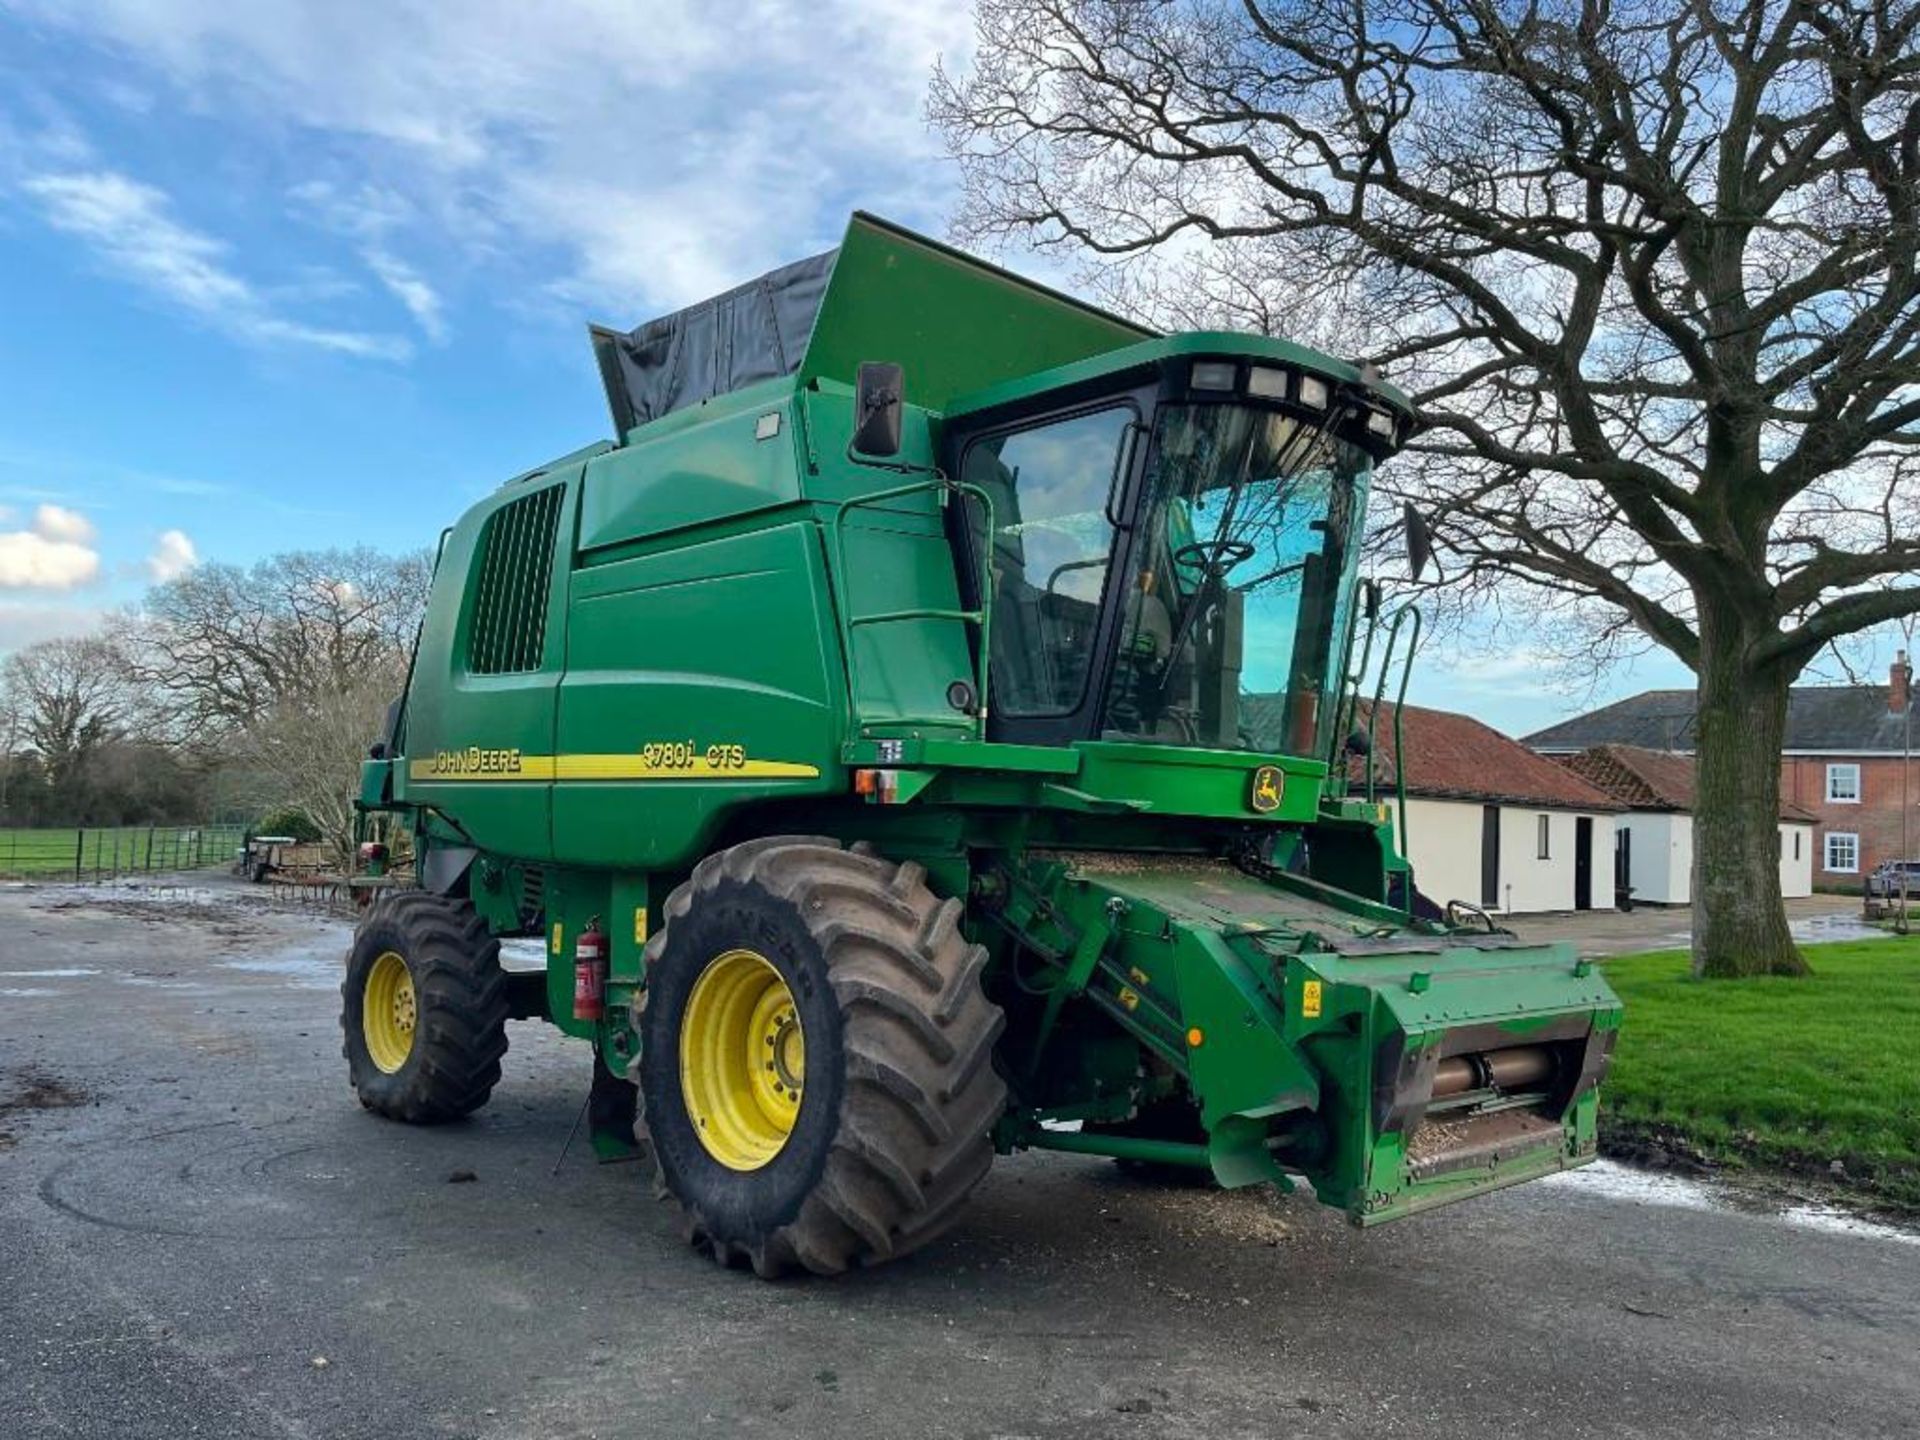
[[[1023,1146],[1359,1225],[1592,1160],[1613,993],[1421,918],[1348,780],[1417,632],[1357,574],[1400,392],[866,215],[593,346],[618,440],[445,534],[365,766],[419,877],[348,960],[365,1106],[465,1116],[549,1020],[760,1275],[906,1254]]]

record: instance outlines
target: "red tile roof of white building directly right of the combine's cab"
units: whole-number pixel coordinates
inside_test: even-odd
[[[1361,705],[1359,724],[1367,710]],[[1624,810],[1626,806],[1596,789],[1572,770],[1544,755],[1534,755],[1517,739],[1501,735],[1465,714],[1407,705],[1402,712],[1407,741],[1407,795],[1450,801],[1534,804],[1559,810]],[[1394,707],[1380,707],[1373,728],[1373,774],[1377,783],[1394,783]],[[1354,776],[1365,780],[1365,760],[1356,756]]]

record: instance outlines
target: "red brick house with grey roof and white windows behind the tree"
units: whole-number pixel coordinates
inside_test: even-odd
[[[1907,847],[1920,851],[1920,760],[1907,758],[1916,720],[1905,651],[1885,685],[1795,685],[1788,693],[1780,799],[1814,816],[1816,887],[1859,889],[1882,860],[1903,858],[1903,816]],[[1693,691],[1649,689],[1548,726],[1526,735],[1526,745],[1551,756],[1596,745],[1692,755]]]

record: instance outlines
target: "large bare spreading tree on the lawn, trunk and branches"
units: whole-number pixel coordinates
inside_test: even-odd
[[[1699,678],[1693,960],[1801,973],[1788,685],[1920,612],[1920,0],[979,0],[970,238],[1306,330],[1450,572]]]

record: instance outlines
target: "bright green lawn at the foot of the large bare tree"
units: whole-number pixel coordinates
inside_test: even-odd
[[[1811,979],[1695,981],[1684,950],[1607,960],[1626,1023],[1603,1135],[1822,1177],[1839,1160],[1847,1185],[1920,1210],[1920,937],[1805,954]]]

